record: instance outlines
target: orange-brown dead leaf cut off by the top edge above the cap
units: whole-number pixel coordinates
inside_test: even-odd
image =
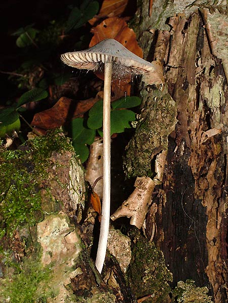
[[[104,0],[98,16],[88,22],[94,25],[100,18],[119,17],[125,10],[128,0]]]

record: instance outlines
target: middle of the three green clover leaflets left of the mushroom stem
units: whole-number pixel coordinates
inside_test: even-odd
[[[92,144],[94,142],[96,131],[94,129],[84,127],[83,122],[83,118],[72,120],[71,132],[73,144]]]

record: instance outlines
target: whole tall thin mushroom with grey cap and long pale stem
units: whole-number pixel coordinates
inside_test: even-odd
[[[155,71],[155,65],[134,55],[121,43],[114,39],[105,39],[98,44],[85,49],[85,51],[70,52],[61,55],[61,60],[72,67],[78,69],[89,69],[96,71],[104,64],[104,99],[103,99],[103,203],[101,230],[98,243],[98,252],[96,258],[96,267],[101,273],[109,232],[110,219],[110,158],[111,158],[111,138],[110,138],[110,99],[111,99],[111,80],[113,64],[124,66],[124,69],[133,74],[144,74]],[[118,70],[118,68],[117,68]]]

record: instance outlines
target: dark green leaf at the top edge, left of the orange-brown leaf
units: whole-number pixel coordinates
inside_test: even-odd
[[[99,3],[97,1],[86,1],[81,5],[80,9],[74,7],[70,12],[67,20],[66,32],[72,28],[77,29],[85,24],[88,20],[92,19],[99,10]]]

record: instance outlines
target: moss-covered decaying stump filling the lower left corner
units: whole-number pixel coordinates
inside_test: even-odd
[[[0,301],[115,302],[75,225],[84,171],[62,131],[2,148],[0,166]]]

